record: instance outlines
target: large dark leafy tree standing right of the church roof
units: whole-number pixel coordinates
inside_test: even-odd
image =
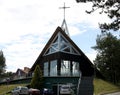
[[[120,40],[111,33],[102,33],[97,36],[97,56],[94,60],[96,67],[106,79],[113,83],[120,80]]]

